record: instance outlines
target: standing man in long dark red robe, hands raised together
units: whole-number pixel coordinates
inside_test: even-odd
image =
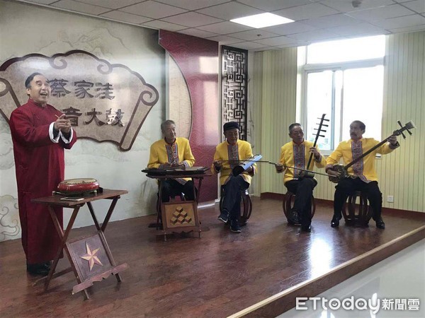
[[[64,148],[77,141],[69,120],[47,104],[50,85],[41,73],[25,83],[28,102],[13,110],[9,125],[15,156],[19,218],[27,271],[45,276],[60,246],[60,237],[47,207],[31,199],[52,195],[64,179]],[[55,208],[62,223],[62,208]]]

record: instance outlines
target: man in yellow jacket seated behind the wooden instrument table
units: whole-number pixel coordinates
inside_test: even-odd
[[[164,139],[155,141],[150,148],[148,168],[192,167],[195,163],[189,141],[176,136],[176,123],[166,120],[161,124]],[[162,181],[162,202],[168,202],[170,196],[183,192],[187,200],[195,200],[192,179],[166,179]]]

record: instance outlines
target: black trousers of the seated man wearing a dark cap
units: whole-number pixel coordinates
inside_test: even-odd
[[[242,175],[230,176],[227,183],[222,186],[224,192],[223,211],[229,212],[230,220],[237,220],[241,213],[241,191],[249,188],[249,183],[244,180]]]

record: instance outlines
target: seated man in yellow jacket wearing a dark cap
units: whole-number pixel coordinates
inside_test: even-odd
[[[239,164],[239,161],[252,157],[252,149],[247,141],[239,140],[239,124],[237,122],[225,123],[223,131],[226,141],[215,148],[214,162],[211,167],[212,173],[221,172],[220,184],[225,196],[218,220],[224,223],[230,220],[230,230],[239,233],[241,232],[238,223],[241,210],[241,190],[249,188],[256,165],[251,165],[236,177],[232,175],[232,169]]]

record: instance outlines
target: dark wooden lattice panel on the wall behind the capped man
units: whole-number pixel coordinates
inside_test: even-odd
[[[246,140],[248,119],[248,51],[222,46],[222,123],[238,122]],[[222,141],[225,137],[222,135]]]

